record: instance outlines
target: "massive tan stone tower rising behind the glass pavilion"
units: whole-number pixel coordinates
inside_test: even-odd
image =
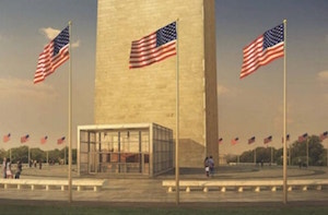
[[[95,124],[156,122],[176,132],[179,164],[219,162],[214,0],[98,0]],[[129,69],[131,41],[178,19],[178,61]]]

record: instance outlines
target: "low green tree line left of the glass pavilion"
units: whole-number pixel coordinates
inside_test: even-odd
[[[0,157],[11,158],[13,164],[21,160],[23,164],[28,164],[28,146],[13,147],[11,150],[0,150]],[[38,147],[30,148],[31,160],[42,160],[43,163],[51,164],[68,164],[68,147],[62,150],[43,151]],[[77,148],[72,150],[72,164],[77,164]]]

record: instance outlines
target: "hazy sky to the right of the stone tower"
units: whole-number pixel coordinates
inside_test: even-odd
[[[243,48],[260,34],[286,24],[286,121],[291,142],[328,130],[328,1],[218,0],[216,60],[220,153],[281,147],[283,58],[239,80]],[[248,145],[248,139],[256,142]],[[232,146],[231,140],[239,138]],[[328,146],[325,143],[326,147]]]

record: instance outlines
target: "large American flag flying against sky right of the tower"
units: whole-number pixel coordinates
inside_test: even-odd
[[[259,67],[266,65],[277,58],[284,56],[284,29],[280,24],[265,32],[243,49],[244,60],[241,79],[255,72]]]

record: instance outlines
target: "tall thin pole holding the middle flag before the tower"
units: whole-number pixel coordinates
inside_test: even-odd
[[[175,187],[176,204],[179,204],[179,49],[178,22],[176,21],[176,134],[175,134]]]

